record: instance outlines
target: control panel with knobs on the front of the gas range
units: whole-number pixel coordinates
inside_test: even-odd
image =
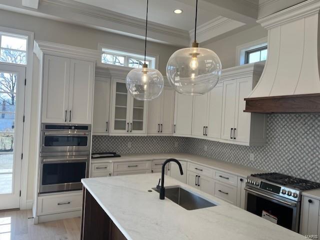
[[[300,191],[292,188],[286,188],[281,185],[277,185],[268,181],[261,180],[259,178],[249,176],[246,182],[247,186],[252,188],[261,189],[266,192],[275,194],[277,196],[290,199],[293,201],[300,200]]]

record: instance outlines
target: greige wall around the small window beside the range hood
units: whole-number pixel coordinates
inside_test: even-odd
[[[222,68],[236,65],[236,46],[267,36],[267,31],[260,25],[235,33],[214,42],[205,42],[200,47],[213,50],[220,58]]]

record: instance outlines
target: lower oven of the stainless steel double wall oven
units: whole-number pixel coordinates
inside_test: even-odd
[[[89,155],[41,156],[39,193],[81,190],[88,174]]]

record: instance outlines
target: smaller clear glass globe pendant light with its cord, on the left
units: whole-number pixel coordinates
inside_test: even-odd
[[[126,76],[126,88],[137,100],[152,100],[160,95],[164,80],[162,74],[145,63],[146,54],[146,30],[148,23],[148,0],[146,0],[146,21],[144,41],[144,63],[142,68],[132,69]]]

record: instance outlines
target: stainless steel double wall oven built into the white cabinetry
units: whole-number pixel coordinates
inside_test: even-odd
[[[42,124],[39,193],[81,190],[88,176],[90,125]]]

